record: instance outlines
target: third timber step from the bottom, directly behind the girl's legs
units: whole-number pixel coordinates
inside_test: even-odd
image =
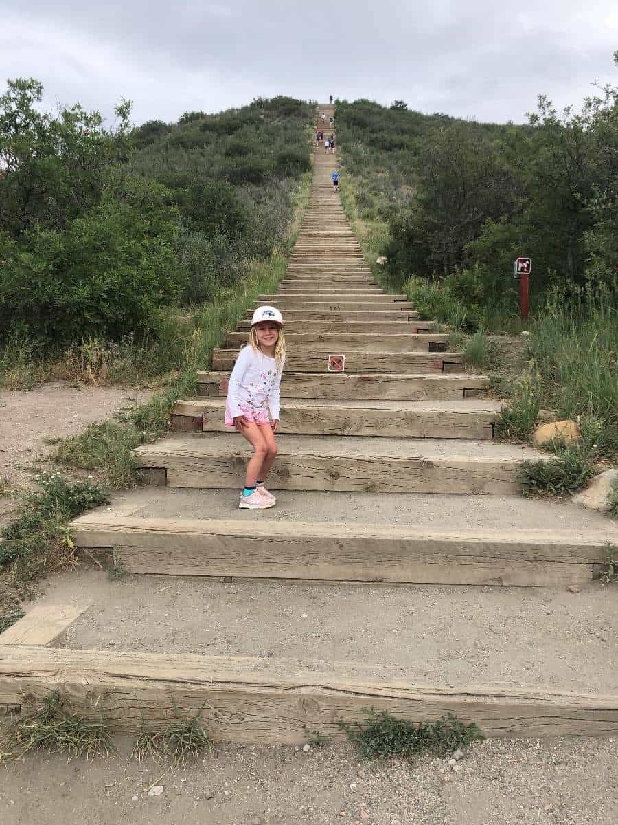
[[[483,441],[280,436],[269,474],[274,490],[377,493],[517,493],[522,461],[549,460],[529,448]],[[133,450],[139,468],[168,487],[242,486],[250,445],[238,433],[167,436]]]

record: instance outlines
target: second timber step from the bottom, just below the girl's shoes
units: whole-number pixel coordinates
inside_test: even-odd
[[[241,515],[241,514],[240,514]],[[77,547],[114,548],[129,573],[331,582],[560,587],[592,582],[607,530],[448,530],[373,523],[169,519],[88,513]]]

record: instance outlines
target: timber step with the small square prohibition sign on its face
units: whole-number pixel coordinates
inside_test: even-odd
[[[213,350],[213,370],[232,370],[238,349],[220,347]],[[344,369],[333,370],[333,357],[344,356]],[[293,372],[461,372],[461,352],[307,352],[288,347],[285,369]]]

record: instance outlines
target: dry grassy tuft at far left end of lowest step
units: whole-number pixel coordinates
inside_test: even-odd
[[[37,751],[66,753],[73,757],[107,756],[115,751],[102,714],[96,722],[75,713],[59,693],[43,700],[43,706],[26,714],[9,728],[2,742],[5,758],[21,759]]]

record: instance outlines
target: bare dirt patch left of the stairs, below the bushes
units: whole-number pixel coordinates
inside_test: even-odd
[[[93,422],[150,398],[152,392],[119,387],[88,387],[65,381],[35,389],[0,390],[0,481],[30,483],[29,467],[54,450],[49,439],[74,436]],[[0,525],[14,509],[0,493]]]

